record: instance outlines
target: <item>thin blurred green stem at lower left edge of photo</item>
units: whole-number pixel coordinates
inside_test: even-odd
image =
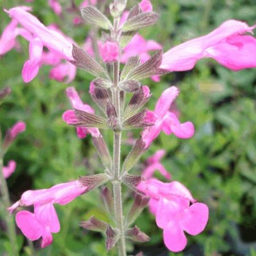
[[[2,193],[2,200],[5,207],[5,222],[7,225],[7,232],[9,236],[9,240],[11,243],[11,249],[13,251],[14,256],[19,256],[18,247],[17,247],[17,240],[16,240],[16,232],[15,232],[15,224],[13,216],[10,216],[8,207],[10,207],[10,196],[9,191],[6,183],[6,179],[3,176],[3,155],[0,152],[0,188]]]

